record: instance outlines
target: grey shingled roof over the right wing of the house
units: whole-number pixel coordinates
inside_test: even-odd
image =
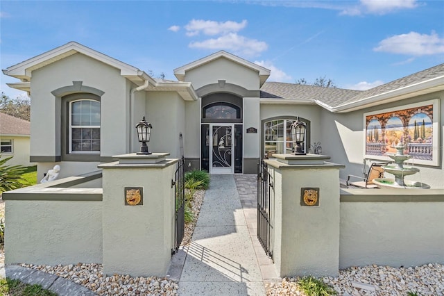
[[[318,101],[322,105],[336,108],[345,104],[362,101],[385,94],[394,90],[400,90],[418,83],[424,83],[432,79],[444,77],[444,64],[425,69],[423,71],[405,76],[401,79],[379,85],[369,90],[345,90],[341,88],[323,88],[314,85],[299,85],[294,83],[266,82],[262,85],[261,99],[289,99],[307,101]],[[442,83],[441,83],[442,85]]]

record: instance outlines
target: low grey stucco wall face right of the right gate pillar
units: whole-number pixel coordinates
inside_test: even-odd
[[[341,202],[339,267],[444,263],[444,202]]]

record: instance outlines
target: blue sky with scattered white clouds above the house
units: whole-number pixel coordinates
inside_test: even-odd
[[[1,69],[69,41],[153,76],[221,49],[364,90],[444,63],[444,1],[0,1]],[[10,97],[24,92],[5,83]]]

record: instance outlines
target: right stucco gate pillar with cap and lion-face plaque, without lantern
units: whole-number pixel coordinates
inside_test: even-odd
[[[265,162],[274,183],[273,259],[278,276],[336,276],[339,169],[344,166],[315,154],[273,157],[276,160]]]

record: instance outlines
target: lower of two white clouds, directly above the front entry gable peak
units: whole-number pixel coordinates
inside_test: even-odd
[[[191,48],[198,49],[225,49],[233,51],[234,54],[241,54],[244,56],[257,56],[262,51],[268,48],[266,42],[249,39],[237,33],[228,33],[219,38],[211,38],[201,42],[191,42]]]

